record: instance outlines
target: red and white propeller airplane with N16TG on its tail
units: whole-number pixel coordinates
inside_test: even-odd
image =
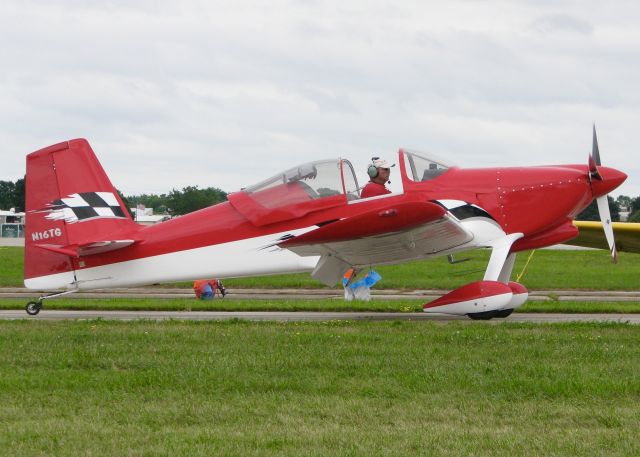
[[[360,198],[348,160],[310,162],[229,195],[224,203],[153,226],[136,224],[84,139],[27,156],[24,283],[79,290],[196,278],[311,271],[327,285],[349,268],[492,253],[484,278],[424,305],[487,319],[522,305],[510,281],[519,251],[567,241],[597,199],[611,254],[607,193],[626,175],[600,166],[594,128],[588,165],[463,169],[400,149],[403,192]]]

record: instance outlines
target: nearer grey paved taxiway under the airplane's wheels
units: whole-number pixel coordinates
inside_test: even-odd
[[[28,316],[24,310],[2,310],[2,320],[193,320],[219,321],[240,319],[250,321],[331,321],[331,320],[419,320],[419,321],[462,321],[462,322],[625,322],[640,324],[639,314],[555,314],[555,313],[515,313],[506,319],[473,321],[465,316],[447,316],[425,313],[375,313],[375,312],[280,312],[280,311],[62,311],[44,309],[37,316]]]

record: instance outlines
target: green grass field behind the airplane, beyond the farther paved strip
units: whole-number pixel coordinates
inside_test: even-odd
[[[422,260],[376,268],[383,279],[376,288],[453,289],[482,279],[490,252],[476,250],[457,256],[471,260],[450,265],[446,258]],[[514,280],[528,289],[635,290],[640,288],[640,255],[620,253],[612,265],[606,251],[535,251],[518,255]],[[23,248],[0,247],[0,287],[22,286]],[[189,283],[182,284],[189,287]],[[324,287],[308,273],[225,280],[229,288],[317,288]]]

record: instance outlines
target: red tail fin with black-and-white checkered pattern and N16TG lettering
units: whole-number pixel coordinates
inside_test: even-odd
[[[27,287],[73,287],[84,248],[133,238],[138,229],[86,140],[27,156]]]

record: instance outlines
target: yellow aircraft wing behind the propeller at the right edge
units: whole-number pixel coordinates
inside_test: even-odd
[[[573,224],[578,227],[580,234],[565,244],[609,250],[602,222],[573,221]],[[613,222],[611,225],[618,251],[640,252],[640,223]]]

